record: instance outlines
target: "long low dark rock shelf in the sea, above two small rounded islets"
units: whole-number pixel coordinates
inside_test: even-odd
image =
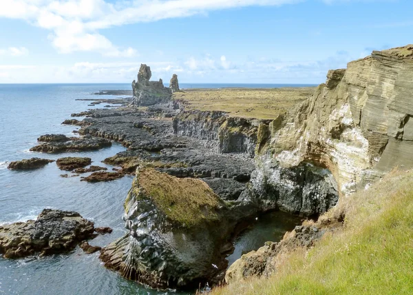
[[[39,145],[30,148],[32,152],[79,152],[86,150],[100,150],[112,145],[107,139],[98,139],[86,134],[83,137],[67,137],[63,134],[46,134],[40,136]]]

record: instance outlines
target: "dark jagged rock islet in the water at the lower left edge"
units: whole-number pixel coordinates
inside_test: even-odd
[[[94,223],[71,211],[44,209],[36,221],[0,226],[0,254],[21,258],[68,252],[94,238]]]

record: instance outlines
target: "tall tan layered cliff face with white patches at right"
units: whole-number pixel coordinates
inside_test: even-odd
[[[290,111],[259,161],[326,168],[343,196],[413,167],[413,45],[372,52],[327,78]]]

